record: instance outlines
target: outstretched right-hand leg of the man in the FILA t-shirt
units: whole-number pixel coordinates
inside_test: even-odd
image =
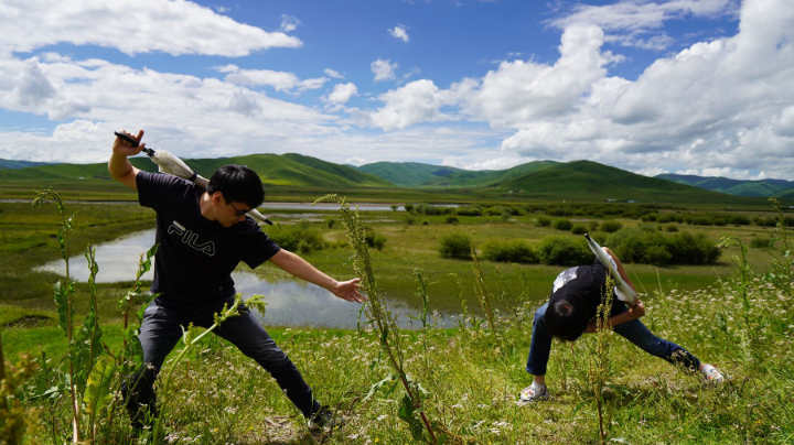
[[[311,388],[254,314],[248,310],[242,311],[244,313],[228,318],[215,333],[270,372],[296,408],[307,419],[311,419],[320,410],[320,403],[312,397]]]

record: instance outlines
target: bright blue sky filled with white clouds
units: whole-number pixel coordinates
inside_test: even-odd
[[[794,180],[790,0],[8,0],[0,25],[3,159],[144,129],[183,158]]]

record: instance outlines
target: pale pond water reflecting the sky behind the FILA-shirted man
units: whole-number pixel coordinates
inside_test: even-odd
[[[99,272],[98,283],[115,283],[135,280],[138,270],[138,258],[154,243],[154,229],[136,232],[111,242],[97,246],[96,260]],[[65,274],[63,261],[52,261],[34,270]],[[69,260],[69,273],[73,279],[88,280],[88,264],[84,257]],[[143,275],[151,280],[152,272]],[[267,326],[290,327],[324,327],[352,329],[356,327],[361,305],[337,299],[322,287],[303,281],[268,282],[254,273],[237,271],[232,274],[238,293],[245,296],[262,294],[268,303],[262,323]],[[419,311],[409,308],[405,303],[388,300],[393,313],[397,315],[400,326],[406,328],[421,327],[409,314],[418,315]],[[439,319],[439,327],[453,325],[454,318],[444,316]]]

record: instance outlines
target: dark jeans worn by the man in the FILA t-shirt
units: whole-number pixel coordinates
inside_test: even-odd
[[[147,306],[138,336],[143,347],[143,366],[136,373],[129,376],[122,386],[127,410],[133,422],[141,420],[143,415],[140,411],[141,408],[149,408],[150,413],[155,415],[157,395],[152,384],[165,357],[182,338],[182,327],[186,328],[190,323],[193,323],[194,326],[207,328],[215,323],[214,314],[221,312],[224,303],[229,306],[234,303],[234,299],[230,297],[200,308],[183,311],[165,307],[158,300],[155,299]],[[301,413],[305,417],[312,416],[320,410],[320,403],[312,397],[312,390],[303,381],[298,368],[270,338],[254,314],[243,305],[240,312],[239,316],[229,317],[213,333],[256,360],[266,371],[270,372]]]

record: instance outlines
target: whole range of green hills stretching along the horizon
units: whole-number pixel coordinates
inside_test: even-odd
[[[745,197],[747,194],[739,197],[730,196],[704,189],[700,185],[690,185],[683,180],[669,181],[664,177],[642,176],[591,161],[568,163],[534,161],[507,170],[476,172],[421,163],[396,162],[378,162],[354,167],[294,153],[185,159],[184,161],[207,177],[221,165],[245,164],[261,176],[266,186],[279,186],[281,189],[313,187],[335,192],[350,188],[411,187],[429,193],[455,195],[478,193],[484,196],[526,199],[758,203],[754,200],[758,198]],[[131,162],[141,170],[157,171],[157,166],[146,156],[136,156],[131,159]],[[0,170],[0,181],[3,182],[34,181],[43,183],[76,180],[110,181],[107,164],[49,164]],[[782,187],[782,185],[792,183],[777,181],[772,184]],[[20,185],[22,184],[20,183]],[[788,192],[775,192],[775,195],[781,198],[794,198],[794,193],[787,194],[794,192],[794,187]],[[758,193],[759,196],[771,196],[763,192]],[[399,192],[397,192],[398,195]]]

